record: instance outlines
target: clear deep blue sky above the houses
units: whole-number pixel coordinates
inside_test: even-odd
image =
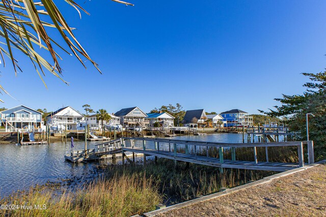
[[[99,64],[64,55],[63,78],[47,73],[46,89],[28,59],[10,61],[1,84],[16,98],[0,107],[24,104],[56,110],[90,104],[116,112],[139,106],[180,103],[184,109],[249,113],[272,108],[282,94],[301,94],[301,73],[326,67],[324,1],[77,1],[91,15],[56,1],[74,34]],[[56,38],[56,37],[55,37]]]

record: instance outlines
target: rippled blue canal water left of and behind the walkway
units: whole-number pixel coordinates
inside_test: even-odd
[[[177,136],[175,139],[241,143],[242,134],[208,134],[206,136]],[[247,141],[247,135],[245,135]],[[89,142],[88,147],[94,148],[101,142]],[[84,142],[75,142],[73,149],[84,149]],[[147,144],[150,147],[151,144]],[[70,149],[70,143],[68,142]],[[0,161],[0,196],[6,196],[15,190],[22,190],[32,184],[43,184],[47,181],[76,177],[91,177],[96,163],[71,164],[65,162],[66,144],[61,142],[50,145],[19,146],[1,144]],[[110,162],[110,161],[108,161]]]

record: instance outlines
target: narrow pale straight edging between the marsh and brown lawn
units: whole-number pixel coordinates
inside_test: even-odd
[[[284,176],[291,175],[291,174],[294,174],[294,173],[297,173],[297,172],[301,172],[301,171],[313,168],[315,166],[318,166],[319,164],[325,164],[325,163],[326,163],[326,160],[322,160],[322,161],[319,161],[317,163],[309,164],[309,165],[304,166],[304,167],[300,167],[300,168],[292,169],[292,170],[289,170],[289,171],[281,172],[281,173],[278,173],[276,175],[267,176],[267,177],[262,178],[260,180],[250,182],[248,184],[243,184],[243,185],[240,185],[240,186],[232,188],[232,189],[228,189],[228,190],[223,191],[223,192],[214,193],[214,194],[211,194],[211,195],[206,195],[206,196],[203,196],[201,198],[196,198],[196,199],[193,199],[193,200],[185,201],[185,202],[178,203],[178,204],[175,204],[175,205],[172,205],[172,206],[168,206],[166,208],[146,212],[146,213],[143,214],[143,216],[151,217],[151,216],[155,216],[155,215],[160,214],[160,213],[171,211],[173,209],[183,208],[183,207],[187,207],[187,206],[190,206],[190,205],[202,202],[202,201],[207,201],[207,200],[215,199],[215,198],[218,198],[218,197],[222,197],[222,196],[232,194],[232,193],[235,193],[235,192],[238,192],[238,191],[242,191],[242,190],[245,190],[245,189],[248,189],[248,188],[251,188],[251,187],[255,187],[257,185],[265,184],[265,183],[268,183],[268,182],[270,182],[270,181],[272,181],[274,179],[278,179],[280,177],[284,177]]]

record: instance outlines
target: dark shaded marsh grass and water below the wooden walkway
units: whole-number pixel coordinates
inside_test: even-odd
[[[233,188],[248,181],[258,180],[275,172],[225,169],[205,165],[178,162],[174,166],[173,160],[158,159],[157,164],[148,161],[146,166],[126,164],[123,166],[106,166],[106,178],[114,174],[151,178],[152,185],[162,194],[168,205],[194,199],[203,195],[219,192],[221,188]]]

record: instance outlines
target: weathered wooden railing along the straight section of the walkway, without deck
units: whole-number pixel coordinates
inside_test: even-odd
[[[168,159],[176,159],[178,154],[189,154],[190,150],[192,153],[195,155],[195,160],[199,158],[198,154],[198,149],[205,150],[206,149],[206,156],[208,157],[209,154],[209,148],[215,147],[218,149],[218,156],[220,160],[220,165],[221,167],[224,168],[241,168],[238,166],[234,166],[231,164],[224,164],[224,161],[226,160],[224,158],[224,149],[229,148],[231,149],[231,161],[236,161],[236,156],[235,156],[235,148],[240,148],[240,147],[248,147],[248,148],[253,148],[254,149],[254,162],[255,164],[258,164],[258,158],[257,158],[257,147],[264,147],[266,148],[266,163],[268,162],[268,147],[287,147],[287,146],[294,146],[297,147],[297,156],[298,156],[298,167],[303,167],[305,165],[304,162],[304,146],[307,145],[307,156],[308,156],[308,164],[314,163],[314,150],[313,150],[313,141],[291,141],[291,142],[263,142],[263,143],[219,143],[219,142],[203,142],[203,141],[185,141],[185,140],[176,140],[176,139],[161,139],[161,138],[139,138],[139,137],[123,137],[122,138],[124,141],[127,140],[133,140],[130,143],[134,143],[134,140],[142,141],[142,147],[136,147],[132,146],[131,148],[123,148],[125,151],[130,151],[131,149],[134,149],[134,152],[141,151],[144,154],[149,154],[150,151],[153,151],[153,148],[148,148],[146,147],[146,142],[153,142],[155,144],[154,150],[155,154],[160,153],[160,151],[165,151],[165,152],[173,152],[173,156],[168,156],[166,158]],[[178,146],[182,146],[182,148],[178,149]],[[192,146],[190,148],[189,146]],[[172,150],[173,149],[173,150]],[[148,150],[148,151],[147,151]],[[182,150],[182,151],[180,151]],[[131,150],[132,151],[132,150]],[[202,152],[201,152],[202,153]],[[203,156],[203,155],[201,155]],[[173,158],[174,157],[174,158]],[[189,162],[189,161],[187,161]],[[272,163],[271,163],[272,164]],[[208,165],[208,164],[207,164]],[[268,170],[264,168],[264,165],[259,164],[259,168],[256,167],[256,169],[261,169],[261,170]],[[268,166],[270,169],[271,166]],[[275,166],[277,167],[277,166]],[[282,170],[276,170],[275,171],[282,171]]]

